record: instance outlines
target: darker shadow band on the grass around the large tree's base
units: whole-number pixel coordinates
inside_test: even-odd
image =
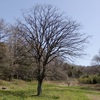
[[[36,95],[36,94],[34,94],[34,91],[33,90],[29,90],[29,91],[9,91],[9,90],[1,90],[0,91],[0,95],[6,95],[6,96],[9,96],[9,95],[12,95],[12,96],[14,96],[14,97],[16,97],[16,98],[21,98],[21,100],[23,99],[26,99],[26,98],[38,98],[39,100],[41,100],[41,98],[42,98],[42,100],[43,99],[53,99],[53,100],[55,100],[55,99],[59,99],[60,97],[59,96],[56,96],[56,95],[46,95],[46,94],[43,94],[43,95],[40,95],[40,96],[38,96],[38,95]]]

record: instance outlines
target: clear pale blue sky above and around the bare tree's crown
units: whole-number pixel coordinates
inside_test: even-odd
[[[51,4],[81,23],[83,28],[80,32],[92,37],[85,48],[87,55],[76,59],[74,63],[91,65],[93,56],[100,50],[100,0],[0,0],[0,18],[7,23],[14,23],[15,19],[21,17],[22,10],[30,9],[36,4]]]

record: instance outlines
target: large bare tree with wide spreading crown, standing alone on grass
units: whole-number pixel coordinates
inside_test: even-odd
[[[80,24],[64,17],[51,5],[36,5],[23,13],[16,31],[37,65],[37,95],[42,93],[48,64],[56,57],[66,60],[82,55],[87,37],[79,33]]]

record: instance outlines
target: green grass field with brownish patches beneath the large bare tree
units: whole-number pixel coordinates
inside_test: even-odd
[[[0,100],[100,100],[100,92],[86,86],[60,86],[45,82],[43,94],[36,95],[36,82],[0,80]],[[2,87],[6,87],[2,90]]]

